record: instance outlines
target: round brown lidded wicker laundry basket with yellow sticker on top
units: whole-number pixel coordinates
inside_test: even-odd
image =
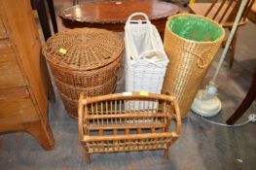
[[[80,28],[55,34],[43,49],[68,114],[77,118],[80,92],[114,91],[121,74],[122,39],[111,31]]]

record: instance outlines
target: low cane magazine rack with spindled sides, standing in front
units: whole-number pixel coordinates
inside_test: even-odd
[[[148,92],[96,97],[81,93],[78,122],[88,163],[91,162],[91,153],[159,149],[165,150],[164,158],[167,160],[168,148],[181,131],[176,99]],[[174,126],[175,129],[172,129]]]

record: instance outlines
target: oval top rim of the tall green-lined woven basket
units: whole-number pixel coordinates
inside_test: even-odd
[[[171,31],[171,29],[167,26],[168,23],[170,22],[170,20],[173,18],[173,17],[185,17],[185,16],[191,16],[191,17],[201,17],[201,18],[204,18],[210,22],[212,22],[213,24],[217,25],[220,27],[220,29],[222,30],[222,36],[220,36],[217,40],[214,40],[214,41],[204,41],[204,42],[198,42],[198,41],[194,41],[194,40],[189,40],[189,39],[185,39],[177,34],[175,34],[174,32]],[[178,15],[173,15],[173,16],[170,16],[168,17],[167,21],[166,21],[166,24],[165,24],[165,29],[167,29],[169,32],[171,32],[175,37],[178,37],[184,41],[187,41],[187,42],[191,42],[191,43],[197,43],[197,44],[212,44],[212,43],[216,43],[216,42],[219,42],[219,41],[222,41],[225,37],[225,30],[223,28],[223,26],[221,24],[219,24],[218,22],[216,22],[215,20],[212,20],[208,17],[202,17],[202,16],[199,16],[199,15],[194,15],[194,14],[178,14]]]

